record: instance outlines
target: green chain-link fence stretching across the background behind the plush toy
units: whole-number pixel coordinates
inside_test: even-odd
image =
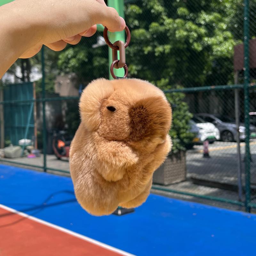
[[[250,211],[256,206],[256,0],[108,1],[114,7],[123,4],[131,30],[129,76],[164,90],[173,109],[173,149],[154,176],[153,191]],[[102,36],[99,26],[77,45],[62,52],[44,47],[8,70],[1,86],[1,148],[13,143],[6,133],[8,104],[19,108],[34,102],[34,123],[15,114],[16,130],[33,126],[19,138],[30,139],[31,145],[24,146],[23,157],[4,157],[3,163],[69,173],[68,145],[80,122],[79,94],[91,80],[109,74],[109,49]],[[33,97],[4,98],[8,84],[30,81],[35,81]]]

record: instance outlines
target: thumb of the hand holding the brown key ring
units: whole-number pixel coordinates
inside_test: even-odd
[[[94,14],[94,24],[102,24],[106,26],[109,31],[122,31],[125,28],[125,21],[119,16],[116,9],[104,6],[98,2],[96,7],[96,14]]]

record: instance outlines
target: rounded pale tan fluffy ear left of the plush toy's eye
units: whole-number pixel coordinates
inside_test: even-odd
[[[114,92],[114,87],[106,79],[92,81],[84,89],[80,101],[79,110],[83,124],[89,131],[97,130],[100,125],[101,102]]]

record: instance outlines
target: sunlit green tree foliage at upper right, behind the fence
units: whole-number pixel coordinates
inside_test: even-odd
[[[126,5],[130,74],[184,87],[229,84],[242,0],[142,0]],[[239,10],[239,12],[237,11]],[[233,25],[234,24],[234,25]],[[238,34],[238,33],[237,33]],[[132,64],[132,65],[131,65]]]

